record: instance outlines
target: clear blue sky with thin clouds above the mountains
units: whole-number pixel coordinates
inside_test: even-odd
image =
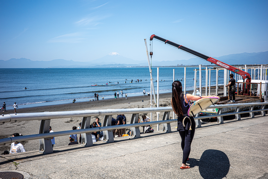
[[[268,51],[268,1],[0,1],[0,60],[147,60],[155,34],[211,57]],[[152,60],[193,56],[153,41]]]

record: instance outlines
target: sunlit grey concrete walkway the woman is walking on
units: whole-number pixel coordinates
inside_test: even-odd
[[[47,155],[5,155],[0,170],[21,170],[32,178],[268,178],[268,117],[225,122],[196,129],[191,169],[179,168],[183,152],[173,127],[169,134],[121,137],[88,148],[58,147]]]

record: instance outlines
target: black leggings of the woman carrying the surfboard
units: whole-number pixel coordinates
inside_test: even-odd
[[[195,123],[192,124],[192,126]],[[187,159],[191,152],[191,143],[193,136],[195,135],[195,126],[192,127],[192,130],[179,131],[181,136],[181,148],[183,149],[183,164],[186,164]]]

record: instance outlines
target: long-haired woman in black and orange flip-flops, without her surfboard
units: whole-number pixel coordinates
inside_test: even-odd
[[[183,94],[182,85],[180,81],[172,83],[172,98],[171,105],[175,114],[178,116],[177,130],[181,136],[181,148],[183,149],[183,162],[180,169],[189,169],[190,166],[186,165],[191,151],[191,143],[195,134],[195,120],[192,116],[188,115],[190,104],[188,100],[199,100],[206,97],[218,96],[194,96],[192,94]],[[219,97],[218,97],[219,98]]]

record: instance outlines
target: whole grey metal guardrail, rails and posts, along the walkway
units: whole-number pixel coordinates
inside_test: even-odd
[[[253,110],[254,106],[261,105],[261,108],[258,110]],[[225,105],[211,105],[208,108],[219,108],[217,115],[210,116],[195,116],[196,127],[201,127],[200,119],[217,117],[219,123],[223,123],[222,116],[236,115],[236,119],[240,120],[240,114],[250,113],[250,117],[254,118],[254,112],[261,112],[261,115],[265,116],[265,112],[268,109],[265,109],[266,103],[242,103],[242,104],[225,104]],[[239,112],[239,107],[241,106],[250,106],[249,111]],[[235,112],[221,114],[223,108],[226,107],[236,107]],[[123,128],[131,128],[131,137],[140,138],[140,126],[144,126],[144,123],[138,123],[139,113],[145,112],[164,112],[162,120],[147,122],[146,125],[156,125],[163,124],[163,131],[166,133],[171,132],[170,123],[177,122],[177,119],[169,119],[170,111],[172,107],[161,107],[161,108],[133,108],[133,109],[103,109],[103,110],[84,110],[84,111],[62,111],[62,112],[38,112],[38,113],[22,113],[22,114],[6,114],[0,116],[0,122],[17,122],[25,120],[41,120],[39,134],[32,134],[27,136],[19,137],[9,137],[0,139],[0,145],[13,143],[16,141],[27,141],[27,140],[36,140],[39,139],[40,147],[39,152],[43,154],[53,153],[51,137],[66,136],[70,134],[81,133],[82,141],[81,145],[89,147],[93,145],[91,133],[97,131],[103,131],[104,140],[103,142],[113,143],[113,130]],[[132,114],[130,124],[124,126],[111,126],[112,115],[117,114]],[[103,127],[90,128],[91,116],[100,116],[104,115]],[[86,116],[86,117],[85,117]],[[83,117],[81,123],[81,129],[77,130],[68,130],[68,131],[58,131],[49,133],[50,119],[59,119],[59,118],[70,118],[70,117]]]

